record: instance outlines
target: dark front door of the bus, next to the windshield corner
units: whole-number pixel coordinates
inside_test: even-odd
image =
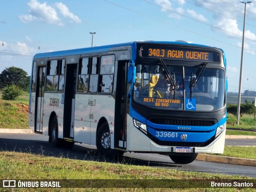
[[[118,61],[116,80],[114,148],[126,151],[128,61]]]

